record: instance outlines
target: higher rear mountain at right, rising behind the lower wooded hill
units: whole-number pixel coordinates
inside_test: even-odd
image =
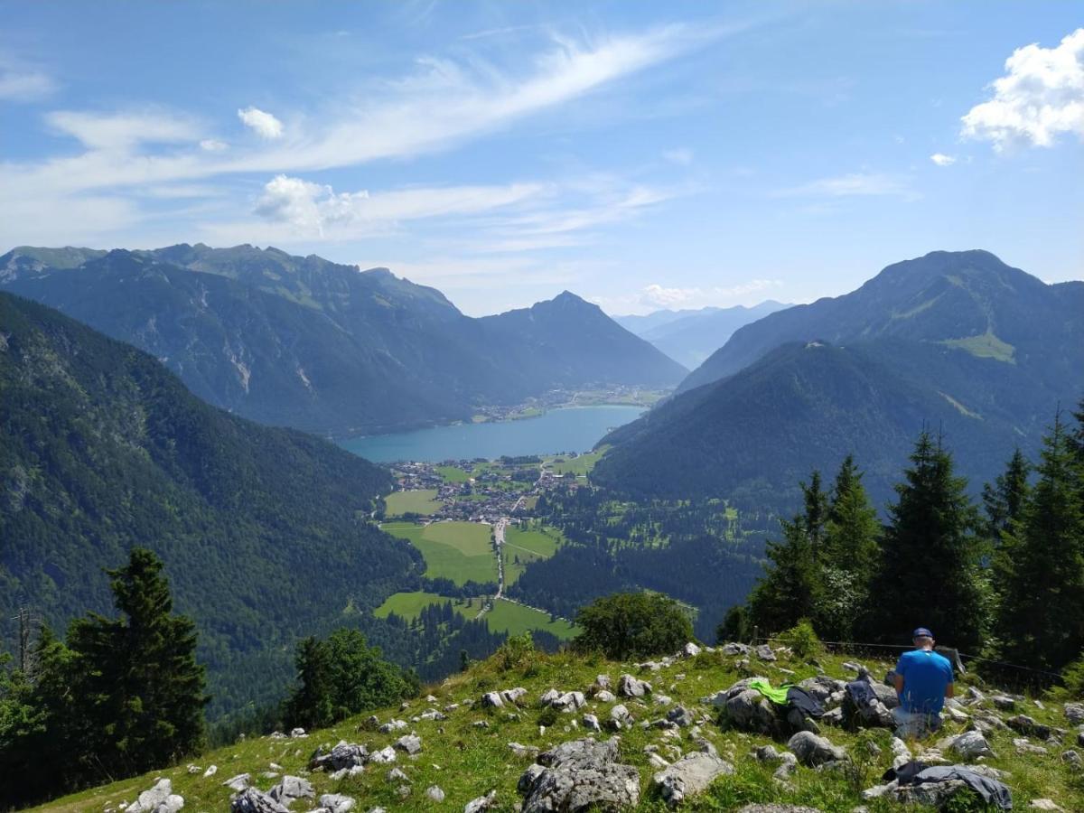
[[[738,330],[682,382],[688,391],[733,375],[786,341],[896,338],[954,347],[1006,364],[1080,376],[1084,283],[1046,285],[989,251],[932,251],[889,266],[856,291],[773,313]]]

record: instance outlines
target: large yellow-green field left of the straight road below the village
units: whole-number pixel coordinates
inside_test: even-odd
[[[478,522],[385,522],[388,533],[411,542],[425,557],[425,575],[430,579],[495,582],[496,557],[490,545],[490,528]]]

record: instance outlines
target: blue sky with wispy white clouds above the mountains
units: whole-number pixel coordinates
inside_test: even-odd
[[[1075,2],[0,2],[0,250],[275,245],[472,314],[1084,278]]]

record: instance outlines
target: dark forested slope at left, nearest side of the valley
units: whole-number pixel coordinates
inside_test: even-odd
[[[423,568],[359,519],[386,470],[208,406],[146,353],[9,294],[0,436],[0,612],[63,629],[107,611],[102,568],[150,547],[198,624],[212,717],[276,698],[299,636],[364,622]]]

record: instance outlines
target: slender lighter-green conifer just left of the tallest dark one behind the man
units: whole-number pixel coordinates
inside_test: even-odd
[[[862,485],[862,473],[854,457],[847,455],[836,475],[820,556],[824,590],[814,624],[822,637],[853,640],[880,558],[879,535],[877,511]]]

